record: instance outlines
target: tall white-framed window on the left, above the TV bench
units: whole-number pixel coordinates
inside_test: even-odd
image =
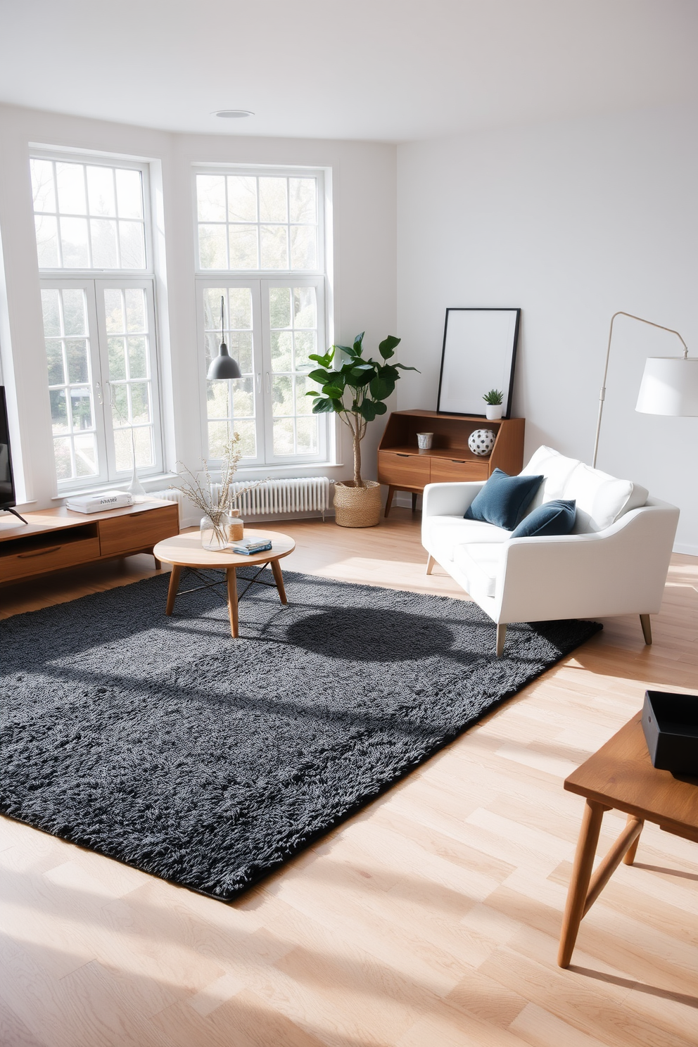
[[[59,490],[159,472],[147,166],[30,165]]]

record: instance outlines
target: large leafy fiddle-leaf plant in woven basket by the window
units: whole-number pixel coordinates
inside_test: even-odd
[[[319,392],[307,394],[315,398],[313,414],[339,415],[354,442],[354,480],[335,485],[335,519],[340,527],[375,527],[380,522],[381,486],[375,480],[361,478],[361,441],[368,422],[386,413],[384,401],[395,389],[400,371],[418,370],[388,362],[400,344],[395,335],[388,335],[379,344],[380,360],[363,356],[362,341],[363,332],[356,336],[353,346],[332,346],[322,356],[311,356],[318,366],[308,376],[320,384]],[[337,353],[341,365],[335,364],[330,370]]]

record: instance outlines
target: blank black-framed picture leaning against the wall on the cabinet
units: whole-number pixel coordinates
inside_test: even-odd
[[[502,394],[502,417],[512,410],[520,309],[447,309],[436,410],[485,417],[482,397]]]

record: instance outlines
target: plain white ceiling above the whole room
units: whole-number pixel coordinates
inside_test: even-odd
[[[0,0],[0,101],[401,141],[695,102],[697,45],[698,0]]]

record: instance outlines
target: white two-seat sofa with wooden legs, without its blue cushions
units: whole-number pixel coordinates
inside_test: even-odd
[[[428,484],[422,544],[497,624],[497,655],[509,622],[637,614],[652,643],[679,511],[630,481],[616,480],[539,447],[522,470],[545,478],[526,514],[554,498],[575,498],[571,534],[512,538],[510,531],[464,519],[483,486]]]

